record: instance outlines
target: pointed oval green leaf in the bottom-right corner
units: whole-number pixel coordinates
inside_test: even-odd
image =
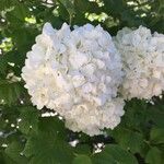
[[[148,152],[145,156],[145,162],[148,164],[163,164],[164,161],[162,159],[162,152],[157,148],[153,147]]]

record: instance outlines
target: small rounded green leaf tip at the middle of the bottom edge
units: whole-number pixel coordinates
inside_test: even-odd
[[[92,164],[92,161],[86,155],[77,155],[77,157],[74,157],[72,164]]]

